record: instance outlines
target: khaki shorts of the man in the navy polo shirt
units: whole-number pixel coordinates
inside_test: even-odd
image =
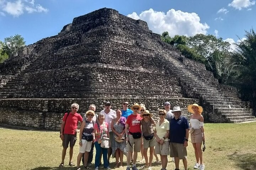
[[[170,142],[170,157],[176,157],[179,159],[187,159],[187,148],[183,143]]]

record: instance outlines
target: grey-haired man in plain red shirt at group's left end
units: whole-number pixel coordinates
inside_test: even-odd
[[[59,167],[64,166],[64,159],[66,156],[66,149],[68,148],[68,145],[70,146],[69,149],[69,166],[75,166],[75,164],[72,162],[73,157],[73,147],[76,142],[76,134],[80,132],[78,127],[78,121],[82,122],[82,116],[78,113],[76,113],[79,109],[79,105],[76,103],[73,103],[71,105],[71,112],[65,113],[62,125],[60,128],[60,138],[62,139],[62,163],[60,163]]]

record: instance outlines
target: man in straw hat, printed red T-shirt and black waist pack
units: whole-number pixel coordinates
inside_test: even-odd
[[[133,110],[133,114],[129,115],[126,120],[126,148],[127,148],[127,168],[126,170],[130,170],[130,159],[131,154],[133,154],[133,165],[132,170],[138,170],[136,168],[136,161],[138,152],[140,152],[140,140],[141,140],[141,128],[140,128],[140,120],[142,119],[140,117],[140,114],[138,114],[138,111],[141,109],[140,105],[138,103],[135,103],[131,109]],[[129,129],[129,132],[128,132]]]

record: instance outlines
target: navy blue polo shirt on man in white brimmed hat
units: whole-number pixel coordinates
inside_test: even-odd
[[[186,139],[186,129],[189,129],[187,117],[180,116],[177,120],[175,117],[170,121],[170,142],[184,143]]]

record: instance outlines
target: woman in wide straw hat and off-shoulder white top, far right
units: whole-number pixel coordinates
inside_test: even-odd
[[[191,143],[194,147],[194,153],[196,156],[196,164],[194,165],[194,169],[204,170],[205,166],[203,164],[203,156],[202,156],[202,143],[204,139],[204,127],[203,121],[204,118],[201,115],[203,112],[202,106],[198,104],[188,105],[188,112],[192,113],[190,117],[190,133],[191,133]]]

